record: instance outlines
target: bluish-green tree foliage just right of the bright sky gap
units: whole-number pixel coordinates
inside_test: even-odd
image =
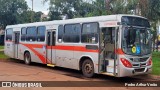
[[[44,0],[45,2],[48,0]],[[62,15],[73,18],[76,14],[81,14],[80,3],[82,0],[50,0],[50,18],[61,19]],[[79,10],[77,13],[76,11]]]

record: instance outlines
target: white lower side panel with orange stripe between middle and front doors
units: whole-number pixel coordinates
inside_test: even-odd
[[[63,46],[62,46],[63,45]],[[94,66],[98,64],[98,52],[91,52],[92,50],[85,50],[86,45],[78,46],[79,44],[59,44],[56,49],[56,65],[71,69],[79,70],[79,62],[82,57],[90,58]],[[60,47],[63,48],[60,48]],[[61,50],[60,50],[61,49]],[[66,50],[64,50],[66,49]],[[95,67],[95,72],[98,73],[98,68]]]

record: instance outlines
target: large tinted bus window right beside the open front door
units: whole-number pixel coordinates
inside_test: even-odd
[[[86,23],[82,27],[82,43],[98,43],[98,23]]]

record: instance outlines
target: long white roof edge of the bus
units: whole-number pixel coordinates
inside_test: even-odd
[[[144,17],[137,16],[137,15],[117,14],[117,15],[106,15],[106,16],[74,18],[74,19],[66,19],[66,20],[54,20],[54,21],[45,21],[45,22],[8,25],[6,28],[19,28],[19,27],[44,26],[44,25],[47,26],[47,25],[52,25],[52,24],[59,25],[59,24],[85,23],[85,22],[97,22],[97,21],[117,21],[122,16],[133,16],[133,17],[144,18]]]

